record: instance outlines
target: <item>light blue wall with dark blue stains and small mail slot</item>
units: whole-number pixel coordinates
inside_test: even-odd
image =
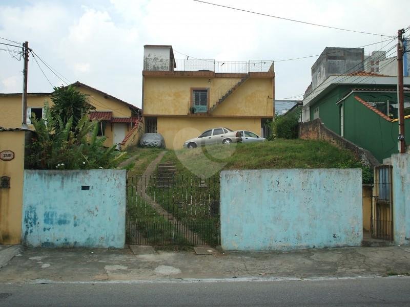
[[[125,208],[126,170],[25,170],[22,242],[124,248]]]

